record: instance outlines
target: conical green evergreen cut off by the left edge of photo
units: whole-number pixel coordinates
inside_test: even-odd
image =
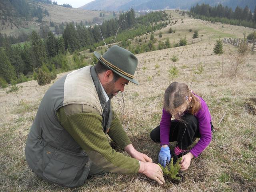
[[[0,48],[0,77],[8,83],[12,80],[17,80],[15,68],[2,48]]]

